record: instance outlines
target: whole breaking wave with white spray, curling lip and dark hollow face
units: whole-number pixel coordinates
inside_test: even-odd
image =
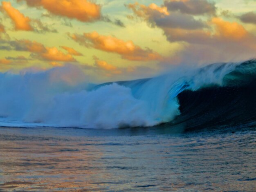
[[[78,67],[0,74],[0,126],[111,129],[255,120],[256,60],[92,85]],[[229,124],[227,123],[227,124]]]

